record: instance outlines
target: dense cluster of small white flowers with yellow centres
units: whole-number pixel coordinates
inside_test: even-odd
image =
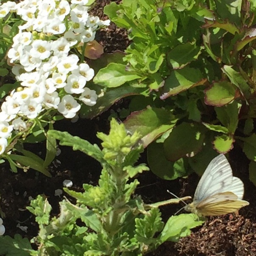
[[[71,48],[94,40],[99,26],[109,20],[89,16],[88,0],[24,0],[0,4],[0,22],[9,12],[24,20],[8,52],[12,72],[22,87],[6,97],[0,112],[0,155],[13,130],[22,131],[26,121],[45,109],[57,109],[73,118],[81,105],[96,104],[97,94],[86,87],[94,70],[79,63]]]

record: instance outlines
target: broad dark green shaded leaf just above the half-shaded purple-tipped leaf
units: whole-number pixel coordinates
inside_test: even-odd
[[[201,48],[196,46],[196,41],[193,43],[180,44],[168,53],[168,59],[172,64],[173,69],[183,68],[193,60],[197,60],[201,53]]]

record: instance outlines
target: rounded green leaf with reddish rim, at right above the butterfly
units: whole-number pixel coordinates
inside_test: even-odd
[[[213,83],[211,87],[204,90],[204,93],[205,104],[221,107],[236,98],[236,86],[226,81],[220,81]]]

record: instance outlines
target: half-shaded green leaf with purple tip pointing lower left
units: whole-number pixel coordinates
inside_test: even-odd
[[[203,79],[199,69],[184,67],[173,70],[165,80],[163,94],[160,98],[164,100],[195,86],[202,85],[205,81],[206,79]]]

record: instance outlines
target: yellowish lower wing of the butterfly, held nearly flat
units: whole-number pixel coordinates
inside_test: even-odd
[[[249,203],[239,200],[234,193],[224,192],[207,197],[200,203],[195,204],[194,207],[200,215],[216,216],[236,212],[246,205],[249,205]]]

